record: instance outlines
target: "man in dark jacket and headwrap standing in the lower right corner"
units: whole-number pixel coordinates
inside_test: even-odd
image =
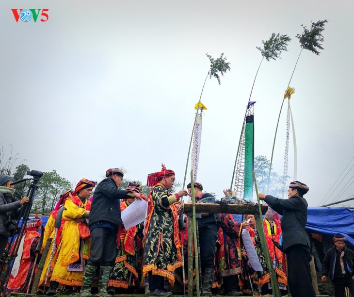
[[[333,237],[335,246],[327,250],[322,262],[322,282],[327,281],[329,275],[336,297],[345,296],[345,287],[354,296],[354,251],[345,247],[346,241],[345,236],[336,234]]]

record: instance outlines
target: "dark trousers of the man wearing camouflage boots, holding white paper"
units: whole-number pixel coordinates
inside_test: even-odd
[[[96,227],[91,231],[91,257],[88,265],[113,266],[117,250],[117,233],[111,228]]]

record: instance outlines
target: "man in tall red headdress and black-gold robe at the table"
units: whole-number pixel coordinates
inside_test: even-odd
[[[147,198],[145,223],[143,275],[148,274],[150,296],[169,296],[164,278],[175,283],[175,270],[182,266],[181,243],[178,234],[178,206],[186,190],[171,194],[169,189],[176,180],[175,172],[162,170],[148,176],[147,186],[153,186]]]

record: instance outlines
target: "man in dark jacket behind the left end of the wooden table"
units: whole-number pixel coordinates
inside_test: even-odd
[[[192,185],[187,185],[189,194],[192,194]],[[194,182],[194,196],[195,201],[201,202],[215,202],[215,197],[209,193],[203,193],[203,185],[199,182]],[[198,215],[198,214],[197,214]],[[196,215],[196,218],[198,217]],[[216,238],[218,236],[218,225],[221,224],[219,214],[199,214],[197,218],[199,230],[199,245],[200,245],[200,258],[202,264],[203,278],[203,295],[211,295],[211,287],[214,281],[215,269],[215,246]]]

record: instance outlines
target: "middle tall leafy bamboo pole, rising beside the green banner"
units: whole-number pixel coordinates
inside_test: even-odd
[[[236,171],[236,165],[237,165],[237,161],[238,161],[238,157],[239,157],[239,152],[240,152],[240,145],[241,145],[241,139],[242,139],[242,134],[244,132],[244,128],[245,128],[245,121],[246,121],[246,116],[247,116],[247,110],[249,107],[249,103],[251,101],[251,97],[252,97],[252,92],[253,92],[253,87],[255,86],[255,82],[257,79],[257,75],[258,75],[258,71],[260,66],[262,65],[262,62],[264,59],[266,59],[268,62],[270,60],[276,60],[277,58],[281,59],[280,54],[283,50],[288,50],[288,43],[290,42],[290,37],[288,35],[280,35],[280,33],[272,33],[271,37],[264,41],[262,40],[262,44],[263,47],[256,47],[261,55],[262,55],[262,59],[259,63],[256,75],[255,75],[255,79],[253,80],[253,84],[252,84],[252,88],[251,88],[251,93],[250,93],[250,97],[248,98],[248,103],[247,103],[247,107],[246,107],[246,113],[244,115],[244,119],[243,119],[243,124],[242,124],[242,129],[241,129],[241,135],[240,135],[240,140],[239,140],[239,145],[237,148],[237,153],[236,153],[236,159],[235,159],[235,165],[234,165],[234,170],[233,170],[233,174],[232,174],[232,179],[231,179],[231,186],[230,189],[232,189],[232,184],[234,181],[234,177],[235,177],[235,171]]]

